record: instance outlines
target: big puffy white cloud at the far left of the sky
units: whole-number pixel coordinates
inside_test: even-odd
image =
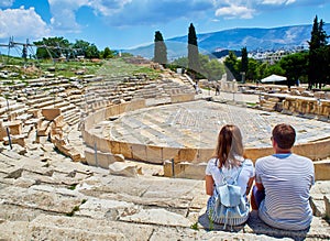
[[[0,10],[0,39],[4,37],[41,37],[50,29],[34,8]]]

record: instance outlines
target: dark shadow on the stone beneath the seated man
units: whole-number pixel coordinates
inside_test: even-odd
[[[300,231],[290,231],[290,230],[283,230],[283,229],[276,229],[270,227],[258,218],[257,211],[250,212],[250,218],[246,224],[256,234],[266,234],[270,237],[280,238],[280,239],[290,238],[296,241],[305,240],[307,238],[307,233],[309,232],[309,229],[305,229]]]

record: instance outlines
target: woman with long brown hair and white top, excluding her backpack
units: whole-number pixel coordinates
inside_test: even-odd
[[[251,160],[243,157],[243,153],[240,129],[232,124],[224,125],[218,136],[216,154],[208,162],[206,168],[206,193],[210,195],[207,212],[215,222],[237,226],[242,224],[249,218],[250,206],[246,195],[250,193],[254,179],[254,167]],[[244,204],[243,209],[245,210],[244,217],[227,218],[226,220],[213,217],[219,187],[224,186],[226,183],[237,183],[237,186],[240,187],[241,198],[243,198]]]

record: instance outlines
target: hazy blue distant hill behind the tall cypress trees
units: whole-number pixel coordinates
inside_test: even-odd
[[[279,48],[293,48],[304,46],[308,48],[307,41],[310,40],[312,25],[279,26],[273,29],[231,29],[212,33],[197,34],[198,47],[200,53],[210,54],[222,50],[240,51],[246,46],[252,51],[271,51]],[[330,24],[324,24],[323,30],[330,34]],[[168,59],[187,56],[187,35],[165,40]],[[133,50],[124,50],[133,55],[141,55],[152,58],[154,45]]]

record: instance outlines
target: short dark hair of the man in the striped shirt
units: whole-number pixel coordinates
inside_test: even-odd
[[[296,141],[296,131],[289,124],[277,124],[273,129],[272,134],[279,149],[290,149]]]

